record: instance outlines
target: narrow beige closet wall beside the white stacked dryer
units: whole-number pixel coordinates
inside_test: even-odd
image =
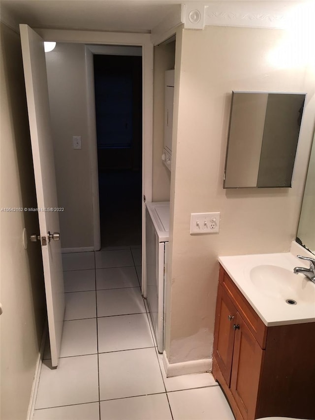
[[[169,201],[171,173],[162,163],[164,143],[164,76],[174,68],[175,42],[154,47],[152,201]]]

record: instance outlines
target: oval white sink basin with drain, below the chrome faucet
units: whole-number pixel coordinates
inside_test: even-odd
[[[315,302],[315,285],[302,273],[266,264],[253,267],[249,274],[254,287],[269,299],[288,305]]]

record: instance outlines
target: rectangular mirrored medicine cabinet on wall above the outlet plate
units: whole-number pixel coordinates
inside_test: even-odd
[[[232,93],[223,188],[291,187],[305,97]]]

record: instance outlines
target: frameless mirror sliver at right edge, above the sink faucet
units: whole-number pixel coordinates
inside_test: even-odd
[[[315,254],[315,135],[306,178],[296,241]]]

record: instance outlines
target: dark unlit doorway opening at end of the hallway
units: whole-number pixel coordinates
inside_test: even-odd
[[[141,245],[142,58],[94,55],[101,248]]]

